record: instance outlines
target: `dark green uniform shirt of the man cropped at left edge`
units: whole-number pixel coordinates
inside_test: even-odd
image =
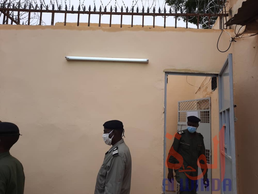
[[[10,152],[0,153],[0,194],[23,194],[23,165]]]

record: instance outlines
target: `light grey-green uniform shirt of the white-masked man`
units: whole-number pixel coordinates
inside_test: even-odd
[[[129,194],[131,171],[131,154],[121,139],[105,154],[98,172],[94,194]]]

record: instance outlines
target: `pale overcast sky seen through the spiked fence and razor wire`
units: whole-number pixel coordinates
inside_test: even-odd
[[[0,2],[3,2],[4,0],[0,0]],[[10,0],[11,4],[13,2],[18,2],[18,0]],[[40,5],[40,0],[30,0],[33,2],[33,4]],[[41,0],[43,1],[43,0]],[[22,4],[26,2],[26,4],[29,4],[29,0],[21,0]],[[123,10],[125,12],[126,7],[128,7],[129,10],[134,6],[134,12],[136,12],[136,8],[138,7],[139,10],[142,10],[142,7],[144,7],[144,10],[146,12],[147,8],[149,7],[151,12],[153,10],[153,7],[155,7],[156,12],[158,12],[158,9],[164,10],[164,7],[166,7],[167,12],[169,12],[170,6],[165,4],[165,0],[44,0],[45,4],[49,5],[49,9],[52,10],[52,6],[50,6],[50,2],[55,3],[55,9],[59,5],[61,5],[62,9],[65,9],[65,4],[67,4],[68,9],[72,5],[74,6],[74,10],[78,10],[79,4],[81,5],[81,10],[83,7],[86,7],[86,10],[89,9],[89,6],[91,6],[91,10],[93,11],[94,4],[96,6],[97,11],[99,11],[99,8],[101,6],[102,11],[104,10],[104,7],[107,7],[107,11],[110,10],[110,7],[114,9],[115,6],[117,6],[117,12],[120,12],[121,7],[123,7]],[[58,4],[58,6],[57,6]],[[70,6],[69,6],[70,4]],[[139,12],[140,12],[139,11]],[[14,15],[17,13],[14,13]],[[34,15],[36,18],[31,19],[31,25],[36,25],[39,23],[39,15]],[[77,14],[67,14],[66,22],[73,22],[77,23]],[[14,16],[15,18],[15,16]],[[28,18],[28,13],[23,13],[22,15],[22,22],[26,23]],[[43,13],[42,14],[42,20],[43,25],[51,25],[51,13]],[[101,16],[101,23],[109,23],[110,16],[109,15],[102,15]],[[121,16],[120,15],[112,15],[112,24],[120,24]],[[0,23],[3,21],[3,15],[0,16]],[[22,23],[21,22],[21,23]],[[55,21],[57,22],[64,22],[64,14],[58,13],[55,14]],[[88,15],[87,14],[80,14],[80,23],[87,23],[88,22]],[[90,16],[90,23],[98,23],[99,22],[99,15],[91,15]],[[9,20],[10,24],[10,20]],[[131,16],[129,15],[123,15],[123,21],[122,24],[124,25],[130,25],[131,24]],[[133,17],[133,25],[142,25],[142,16],[134,16]],[[153,17],[152,16],[144,16],[144,26],[152,26],[153,25]],[[164,18],[162,16],[156,16],[155,18],[155,26],[164,26]],[[175,18],[173,16],[169,16],[166,18],[166,26],[175,26]],[[177,21],[177,27],[186,27],[186,23],[182,20]],[[196,25],[188,23],[188,28],[197,28]]]

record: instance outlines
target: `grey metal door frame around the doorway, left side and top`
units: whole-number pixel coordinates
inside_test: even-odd
[[[194,73],[194,72],[172,72],[172,71],[165,71],[165,97],[164,97],[164,150],[163,150],[163,184],[162,190],[165,193],[164,183],[166,180],[166,149],[167,149],[167,140],[166,140],[166,124],[167,124],[167,83],[168,83],[168,75],[183,75],[183,76],[202,76],[202,77],[218,77],[218,73]],[[212,140],[212,139],[211,139]]]

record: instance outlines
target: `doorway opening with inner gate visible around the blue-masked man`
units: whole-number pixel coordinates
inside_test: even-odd
[[[165,72],[163,193],[179,193],[179,184],[175,177],[172,183],[165,181],[168,176],[166,160],[175,133],[187,129],[188,116],[197,116],[201,119],[197,132],[204,137],[207,164],[212,163],[211,138],[219,131],[219,92],[217,85],[218,74]],[[198,174],[201,173],[202,171],[199,168]],[[219,171],[216,174],[216,177],[219,178]],[[208,179],[211,180],[211,169],[208,169]],[[210,181],[210,188],[212,187],[211,184]],[[197,193],[211,194],[211,189],[205,191],[201,179],[199,179]]]

